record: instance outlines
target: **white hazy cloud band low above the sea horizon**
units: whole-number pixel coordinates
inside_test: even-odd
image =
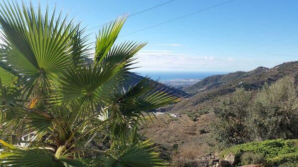
[[[154,51],[154,50],[153,50]],[[250,71],[264,64],[254,59],[193,56],[174,52],[142,52],[137,55],[137,71]],[[253,67],[253,68],[252,68]]]

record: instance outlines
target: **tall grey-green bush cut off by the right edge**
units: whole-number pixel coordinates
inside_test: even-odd
[[[252,123],[262,140],[298,137],[298,98],[293,78],[266,84],[256,95]],[[264,133],[266,132],[266,133]]]

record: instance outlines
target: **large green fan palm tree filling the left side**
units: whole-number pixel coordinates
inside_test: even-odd
[[[146,43],[115,44],[125,20],[102,27],[92,55],[61,12],[0,4],[0,166],[164,166],[138,130],[150,109],[178,99],[149,78],[126,86]]]

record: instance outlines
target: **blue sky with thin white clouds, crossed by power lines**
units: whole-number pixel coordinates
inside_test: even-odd
[[[40,0],[82,21],[90,42],[99,29],[90,28],[168,1]],[[149,42],[138,54],[136,72],[250,71],[298,60],[298,0],[234,0],[126,35],[227,1],[173,0],[129,17],[118,40]]]

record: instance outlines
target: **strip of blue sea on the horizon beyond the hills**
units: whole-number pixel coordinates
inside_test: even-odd
[[[167,80],[183,80],[183,79],[204,79],[209,76],[223,75],[230,72],[139,72],[141,76],[148,76],[152,80],[167,81]]]

